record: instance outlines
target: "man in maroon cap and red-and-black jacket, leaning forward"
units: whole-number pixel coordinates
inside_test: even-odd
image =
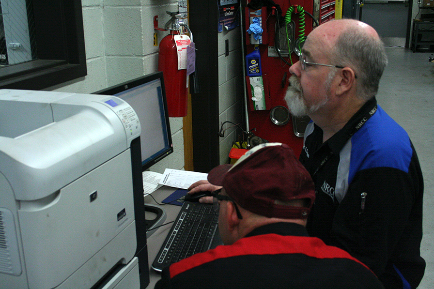
[[[366,265],[308,236],[314,184],[287,145],[256,146],[208,181],[222,186],[225,245],[165,268],[155,288],[383,288]]]

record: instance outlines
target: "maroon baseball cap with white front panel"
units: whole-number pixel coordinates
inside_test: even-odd
[[[242,208],[266,217],[306,219],[315,189],[312,178],[286,144],[264,143],[247,151],[234,165],[221,165],[208,181],[223,186]],[[307,199],[306,207],[288,201]]]

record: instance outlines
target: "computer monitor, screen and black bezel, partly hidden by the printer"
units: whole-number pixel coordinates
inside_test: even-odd
[[[117,96],[126,101],[139,116],[142,170],[173,152],[162,72],[142,76],[94,94]]]

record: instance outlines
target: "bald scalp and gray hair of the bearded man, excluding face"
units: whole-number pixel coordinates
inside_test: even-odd
[[[380,36],[371,26],[354,19],[332,20],[312,30],[307,41],[324,51],[330,63],[355,71],[358,98],[367,101],[375,96],[387,56]]]

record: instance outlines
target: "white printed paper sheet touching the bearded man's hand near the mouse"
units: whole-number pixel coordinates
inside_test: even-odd
[[[160,183],[175,188],[187,189],[192,183],[206,180],[207,176],[206,173],[166,168]]]

